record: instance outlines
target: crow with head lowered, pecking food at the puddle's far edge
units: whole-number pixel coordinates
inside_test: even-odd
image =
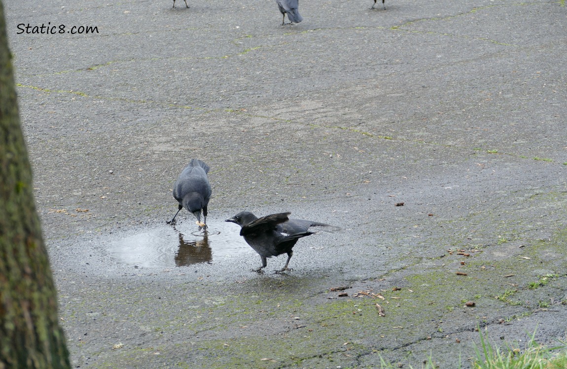
[[[185,208],[197,218],[199,229],[206,228],[207,205],[211,197],[211,185],[207,173],[209,173],[208,165],[201,160],[191,159],[189,165],[179,174],[174,184],[174,198],[179,203],[179,209],[167,224],[175,224],[175,217]],[[204,223],[201,223],[201,210],[205,217]]]

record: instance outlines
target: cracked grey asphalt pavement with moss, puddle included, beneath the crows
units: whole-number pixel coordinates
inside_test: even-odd
[[[4,5],[74,367],[467,368],[477,327],[567,337],[562,2]],[[47,22],[99,33],[17,33]],[[192,157],[206,237],[166,224]],[[342,231],[259,275],[243,210]]]

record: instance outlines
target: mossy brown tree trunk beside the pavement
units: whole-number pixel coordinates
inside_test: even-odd
[[[70,368],[0,1],[0,369]]]

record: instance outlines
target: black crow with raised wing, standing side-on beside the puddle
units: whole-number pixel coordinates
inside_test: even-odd
[[[284,268],[278,272],[291,271],[287,264],[293,256],[291,249],[298,239],[314,234],[315,232],[309,231],[310,227],[332,227],[310,220],[290,219],[287,217],[289,214],[291,213],[277,213],[258,218],[252,213],[240,212],[226,220],[238,224],[244,241],[260,254],[262,265],[253,269],[253,272],[264,273],[262,269],[267,265],[266,258],[281,254],[287,254],[287,261]]]

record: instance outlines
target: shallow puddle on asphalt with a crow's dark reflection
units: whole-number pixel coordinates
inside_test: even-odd
[[[106,251],[112,259],[138,267],[184,267],[251,250],[239,231],[231,224],[211,224],[206,232],[194,225],[164,226],[122,238]]]

